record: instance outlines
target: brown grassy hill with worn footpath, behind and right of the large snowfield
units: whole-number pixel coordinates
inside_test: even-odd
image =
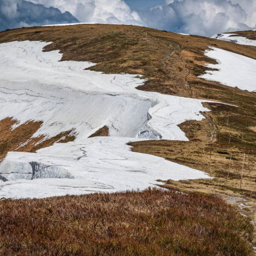
[[[237,34],[252,39],[256,32]],[[146,27],[104,24],[30,27],[0,33],[0,43],[15,40],[52,41],[53,43],[46,46],[44,51],[59,50],[63,54],[62,60],[96,62],[98,65],[90,68],[95,71],[143,74],[148,81],[138,87],[139,90],[212,99],[237,105],[238,107],[217,103],[205,104],[211,110],[203,113],[206,119],[201,122],[189,121],[180,124],[190,142],[143,141],[132,143],[132,146],[135,147],[133,151],[158,155],[182,165],[212,172],[214,177],[219,177],[218,185],[221,186],[221,191],[232,187],[238,194],[254,196],[256,94],[198,78],[208,69],[205,63],[216,63],[204,55],[208,46],[256,59],[254,46],[174,34]],[[38,148],[43,146],[46,145],[39,144]],[[210,146],[213,148],[210,149]],[[202,153],[203,149],[207,154],[207,160]],[[221,155],[216,151],[226,151],[227,154],[232,152],[238,160],[232,161],[232,174],[227,186],[223,182],[229,169],[229,155]],[[238,180],[244,152],[247,179],[243,184],[245,193],[240,190]],[[199,183],[201,182],[204,181],[199,180]],[[216,184],[210,187],[211,193],[216,193]],[[230,190],[228,192],[230,193]]]

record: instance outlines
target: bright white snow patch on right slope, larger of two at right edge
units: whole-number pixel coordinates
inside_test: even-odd
[[[256,60],[233,52],[210,46],[205,55],[217,60],[218,64],[207,64],[218,71],[207,71],[200,76],[241,90],[256,91]]]

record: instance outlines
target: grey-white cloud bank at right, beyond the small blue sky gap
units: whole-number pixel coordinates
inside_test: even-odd
[[[255,27],[256,0],[166,0],[139,15],[149,27],[208,37]]]

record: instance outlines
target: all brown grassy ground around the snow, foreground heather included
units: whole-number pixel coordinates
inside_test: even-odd
[[[240,35],[254,39],[256,32]],[[59,50],[62,60],[98,63],[90,68],[94,71],[142,74],[148,80],[138,90],[215,101],[205,103],[211,112],[202,113],[202,121],[180,124],[190,141],[141,141],[130,145],[135,152],[157,155],[208,172],[216,179],[164,180],[165,187],[187,194],[147,190],[38,200],[3,199],[2,255],[253,254],[254,228],[249,219],[219,197],[207,194],[254,199],[256,94],[198,76],[209,70],[205,63],[216,63],[204,55],[208,46],[256,59],[254,46],[146,27],[101,24],[30,27],[0,33],[0,43],[23,40],[51,41],[44,51]],[[27,141],[41,125],[29,122],[9,130],[14,123],[10,118],[0,121],[0,159]],[[75,137],[69,136],[70,132],[36,147],[34,144],[41,137],[35,138],[18,151],[35,152],[62,137],[66,138],[61,142],[73,141]],[[107,133],[108,128],[103,127],[93,136]]]

